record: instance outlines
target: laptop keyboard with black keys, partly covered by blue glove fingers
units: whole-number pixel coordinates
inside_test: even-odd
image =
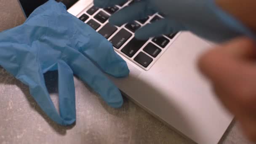
[[[127,3],[104,9],[91,5],[85,8],[78,15],[78,18],[108,39],[114,46],[115,51],[147,71],[171,45],[177,33],[152,37],[148,40],[137,40],[134,37],[134,32],[137,29],[154,21],[164,19],[164,15],[159,13],[120,27],[108,23],[108,19],[113,13],[132,3],[136,3],[136,1],[138,0],[128,0]]]

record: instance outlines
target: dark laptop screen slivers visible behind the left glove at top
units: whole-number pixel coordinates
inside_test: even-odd
[[[43,5],[48,0],[19,0],[21,7],[27,17],[40,5]],[[56,0],[66,5],[67,9],[74,5],[78,0]]]

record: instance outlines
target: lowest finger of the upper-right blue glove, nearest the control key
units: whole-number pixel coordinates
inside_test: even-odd
[[[135,32],[135,37],[137,39],[146,40],[149,37],[171,34],[181,30],[185,30],[185,27],[183,27],[182,24],[179,24],[176,21],[162,19],[141,27]]]

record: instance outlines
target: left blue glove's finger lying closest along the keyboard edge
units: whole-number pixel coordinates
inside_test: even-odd
[[[114,77],[125,77],[129,74],[126,62],[114,51],[112,44],[96,33],[90,26],[79,23],[81,29],[76,36],[76,49],[93,61],[104,72]]]

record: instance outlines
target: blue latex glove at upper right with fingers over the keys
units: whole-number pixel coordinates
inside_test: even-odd
[[[127,0],[94,0],[97,7],[107,7]],[[214,0],[136,0],[139,1],[113,14],[109,22],[121,25],[133,20],[161,12],[163,20],[148,24],[137,30],[135,37],[147,39],[161,34],[189,30],[196,35],[214,42],[223,42],[234,37],[255,35],[240,21],[222,11]]]

